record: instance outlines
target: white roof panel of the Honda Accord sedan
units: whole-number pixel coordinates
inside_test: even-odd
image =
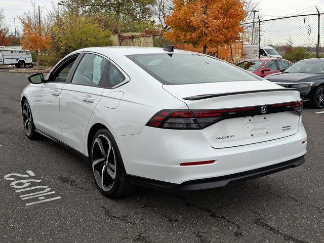
[[[79,49],[76,52],[97,52],[107,56],[125,56],[125,55],[136,55],[136,54],[156,54],[156,53],[188,53],[197,54],[196,52],[189,52],[174,49],[174,52],[168,52],[163,50],[163,48],[158,47],[90,47]]]

